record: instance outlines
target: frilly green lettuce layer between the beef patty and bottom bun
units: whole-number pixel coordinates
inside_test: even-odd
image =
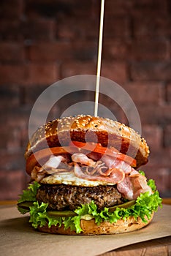
[[[149,180],[148,185],[151,186],[152,190],[156,189],[153,180]],[[29,222],[31,222],[32,226],[35,228],[44,225],[48,225],[48,227],[51,227],[51,225],[59,225],[59,227],[61,227],[63,224],[65,229],[70,228],[71,230],[75,230],[76,233],[80,233],[83,231],[80,227],[80,219],[86,214],[89,214],[94,218],[96,225],[100,225],[103,221],[108,221],[110,223],[117,222],[118,219],[126,219],[131,216],[135,219],[140,217],[142,222],[147,222],[146,218],[150,219],[153,211],[157,211],[158,207],[161,207],[161,197],[159,197],[159,192],[155,190],[153,191],[153,194],[150,194],[149,192],[140,194],[134,205],[129,208],[117,207],[113,212],[110,212],[109,208],[104,208],[102,211],[99,211],[94,201],[91,201],[91,203],[78,207],[75,210],[75,213],[77,214],[75,217],[50,217],[47,212],[48,203],[39,204],[36,200],[38,187],[39,184],[34,182],[34,184],[31,184],[26,191],[23,191],[23,195],[21,195],[18,200],[19,202],[23,202],[23,200],[28,201],[28,199],[34,201],[33,206],[29,207]]]

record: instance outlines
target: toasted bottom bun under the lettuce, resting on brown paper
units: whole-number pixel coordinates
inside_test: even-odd
[[[134,217],[129,217],[126,220],[118,220],[115,223],[102,222],[99,226],[96,225],[94,219],[81,219],[80,227],[83,230],[83,232],[81,233],[76,233],[75,231],[70,230],[70,228],[65,230],[64,225],[61,225],[61,227],[55,225],[48,227],[47,225],[45,225],[43,227],[38,227],[38,230],[45,233],[61,235],[110,235],[140,230],[140,228],[148,225],[152,219],[153,214],[151,214],[151,219],[147,219],[147,222],[142,222],[142,219],[140,219],[140,217],[138,217],[137,220],[135,220]]]

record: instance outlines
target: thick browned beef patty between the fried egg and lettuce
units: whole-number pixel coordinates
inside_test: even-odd
[[[49,209],[58,211],[73,211],[82,204],[91,203],[91,200],[99,209],[123,203],[115,186],[77,187],[64,184],[42,184],[37,191],[37,200],[48,203]]]

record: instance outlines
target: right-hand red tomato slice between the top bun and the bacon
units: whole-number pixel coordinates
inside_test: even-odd
[[[129,157],[126,154],[122,154],[114,147],[106,148],[106,147],[103,147],[100,143],[89,143],[89,142],[83,143],[80,141],[72,141],[72,143],[70,143],[70,146],[73,146],[73,144],[77,148],[85,149],[88,151],[94,151],[94,152],[100,153],[100,154],[107,154],[110,157],[115,157],[116,159],[119,159],[119,160],[129,163],[129,165],[131,165],[132,167],[137,166],[136,159]]]

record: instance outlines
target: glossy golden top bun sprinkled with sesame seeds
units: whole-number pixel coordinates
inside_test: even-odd
[[[25,157],[43,148],[68,146],[71,140],[113,146],[136,159],[137,167],[148,162],[148,145],[134,129],[118,121],[90,115],[58,118],[39,127],[28,143]]]

